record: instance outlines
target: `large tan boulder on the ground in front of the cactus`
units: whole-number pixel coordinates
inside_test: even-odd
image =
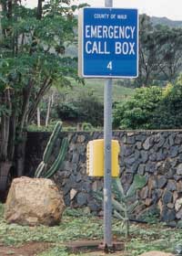
[[[61,221],[65,203],[56,184],[45,178],[15,178],[5,203],[8,223],[53,226]]]

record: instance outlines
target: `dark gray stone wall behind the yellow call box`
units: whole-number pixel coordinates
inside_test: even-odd
[[[41,161],[50,133],[29,133],[26,150],[26,174],[33,176]],[[69,151],[62,169],[54,177],[62,188],[66,205],[88,206],[100,211],[101,206],[93,191],[101,189],[103,179],[86,176],[86,144],[103,138],[103,133],[62,133],[57,140],[55,153],[63,136],[68,136]],[[119,141],[121,182],[127,189],[134,175],[147,176],[147,186],[136,197],[143,205],[138,211],[158,206],[162,220],[182,219],[182,131],[116,131],[113,138]]]

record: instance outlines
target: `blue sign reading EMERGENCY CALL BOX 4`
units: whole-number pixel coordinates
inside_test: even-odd
[[[137,10],[86,7],[82,18],[82,76],[137,77]]]

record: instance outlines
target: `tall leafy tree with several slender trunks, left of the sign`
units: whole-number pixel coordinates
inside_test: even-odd
[[[47,91],[76,76],[76,59],[64,56],[76,44],[76,5],[49,0],[29,9],[18,0],[0,0],[0,170],[5,163],[24,173],[26,127]]]

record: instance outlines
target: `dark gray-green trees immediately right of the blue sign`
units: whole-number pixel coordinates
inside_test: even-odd
[[[175,80],[182,67],[182,29],[153,26],[147,15],[139,20],[137,85],[146,87],[153,80]]]

